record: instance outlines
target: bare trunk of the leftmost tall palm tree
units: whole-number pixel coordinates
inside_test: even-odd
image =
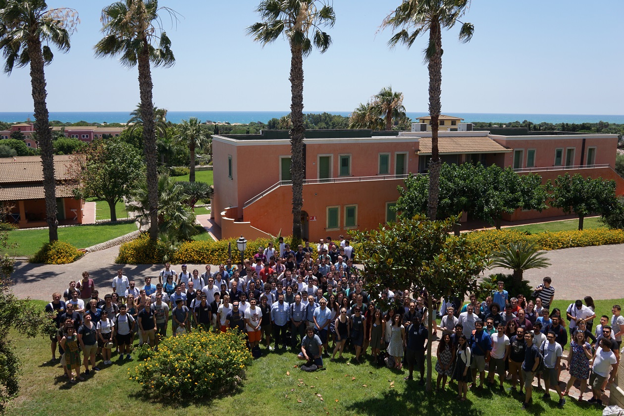
[[[56,221],[56,180],[54,179],[54,148],[52,132],[46,105],[46,74],[44,72],[41,39],[31,36],[28,39],[28,56],[31,60],[32,101],[34,104],[35,131],[37,145],[41,150],[43,168],[43,189],[46,200],[46,222],[50,243],[59,239]]]

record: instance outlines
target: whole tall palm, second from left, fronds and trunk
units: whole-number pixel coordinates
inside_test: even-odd
[[[95,45],[96,57],[120,56],[125,67],[139,69],[140,116],[143,120],[143,146],[149,190],[150,238],[158,238],[158,173],[154,104],[152,102],[152,69],[150,64],[170,67],[175,64],[171,41],[159,26],[158,12],[171,9],[158,7],[157,0],[117,1],[102,9],[104,38]],[[174,16],[175,17],[175,16]],[[158,45],[155,46],[158,42]]]

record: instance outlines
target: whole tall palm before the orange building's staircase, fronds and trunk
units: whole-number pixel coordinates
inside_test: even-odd
[[[321,6],[319,9],[317,4]],[[301,207],[303,206],[303,57],[313,47],[321,53],[327,51],[331,37],[321,31],[321,26],[333,26],[336,21],[333,7],[326,0],[263,0],[256,9],[261,22],[248,27],[255,41],[269,44],[284,35],[290,43],[290,172],[293,181],[293,241],[301,240]]]

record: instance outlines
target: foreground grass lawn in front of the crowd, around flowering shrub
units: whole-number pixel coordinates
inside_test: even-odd
[[[35,302],[41,308],[47,303]],[[112,365],[102,365],[102,371],[71,385],[62,377],[59,364],[43,364],[50,358],[49,345],[47,337],[16,339],[14,346],[23,363],[21,392],[7,409],[7,415],[125,415],[128,409],[169,415],[229,414],[232,409],[240,415],[271,416],[527,414],[520,409],[520,396],[509,391],[501,394],[498,390],[474,390],[468,393],[466,402],[459,402],[455,399],[456,387],[427,393],[417,382],[404,381],[404,372],[378,368],[368,361],[355,364],[351,352],[345,352],[345,359],[338,362],[326,360],[326,371],[306,373],[294,367],[300,362],[293,352],[266,355],[264,347],[265,356],[246,369],[246,380],[232,395],[218,396],[216,392],[220,386],[215,386],[213,391],[206,392],[207,397],[215,397],[212,402],[172,400],[142,392],[127,375],[129,369],[134,369],[136,360],[118,364],[117,356],[113,356]],[[435,378],[435,370],[433,375]],[[508,383],[505,387],[509,390]],[[89,392],[89,400],[68,400],[68,397],[82,397],[85,391]],[[565,408],[558,409],[555,400],[545,402],[536,392],[530,414],[600,415],[602,410],[587,403],[578,404],[575,399],[568,399]]]

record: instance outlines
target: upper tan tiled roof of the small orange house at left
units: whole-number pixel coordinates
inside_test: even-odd
[[[68,168],[71,166],[71,155],[54,156],[54,178],[57,180],[71,179]],[[41,156],[21,156],[0,158],[0,184],[16,182],[43,181]]]

